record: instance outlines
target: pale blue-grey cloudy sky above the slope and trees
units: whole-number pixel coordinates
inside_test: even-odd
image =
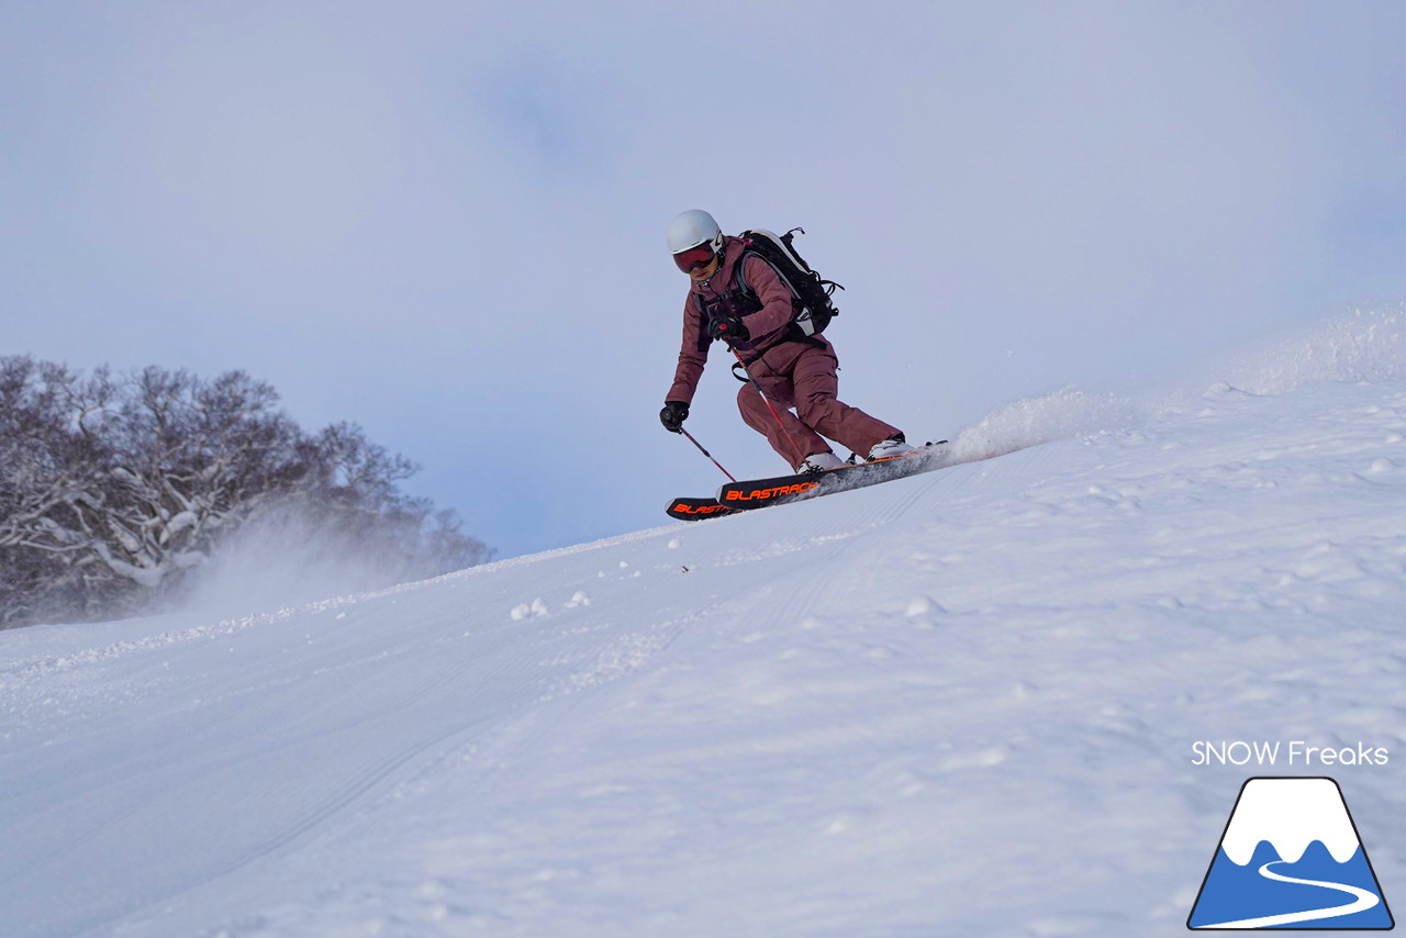
[[[721,475],[664,232],[803,225],[949,436],[1406,297],[1406,4],[0,0],[0,353],[243,368],[515,555]],[[714,354],[689,428],[782,468]]]

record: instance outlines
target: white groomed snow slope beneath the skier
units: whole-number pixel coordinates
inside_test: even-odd
[[[858,492],[0,633],[0,932],[1180,935],[1250,775],[1337,778],[1406,903],[1403,330]]]

